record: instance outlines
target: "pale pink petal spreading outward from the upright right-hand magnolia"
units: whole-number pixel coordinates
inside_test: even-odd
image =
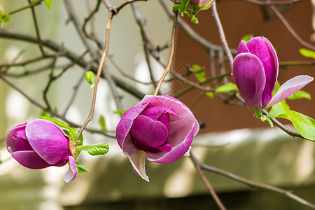
[[[277,104],[283,99],[286,99],[291,94],[297,92],[297,90],[302,89],[302,87],[310,83],[313,79],[314,78],[307,75],[300,75],[287,80],[286,83],[281,85],[276,94],[274,94],[274,97],[272,97],[266,108],[274,106],[274,104]]]

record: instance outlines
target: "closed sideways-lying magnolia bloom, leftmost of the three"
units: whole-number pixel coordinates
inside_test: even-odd
[[[61,167],[69,162],[64,181],[68,183],[76,178],[77,169],[69,149],[69,139],[55,123],[37,119],[13,127],[8,132],[6,148],[15,160],[29,169]]]

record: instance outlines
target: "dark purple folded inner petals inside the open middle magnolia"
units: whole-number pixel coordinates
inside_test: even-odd
[[[130,134],[134,137],[134,144],[139,149],[146,151],[146,148],[157,148],[164,144],[168,131],[160,121],[140,115],[134,119]]]

